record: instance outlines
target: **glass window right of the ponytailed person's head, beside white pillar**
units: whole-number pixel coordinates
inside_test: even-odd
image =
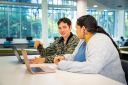
[[[100,26],[102,26],[111,37],[115,37],[115,12],[114,11],[97,11],[94,9],[87,10],[87,14],[93,15]]]

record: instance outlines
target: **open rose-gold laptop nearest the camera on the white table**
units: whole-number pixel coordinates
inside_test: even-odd
[[[27,67],[28,72],[31,74],[44,74],[44,73],[54,73],[55,70],[48,67],[48,66],[36,66],[36,67],[31,67],[29,64],[27,52],[24,49],[21,49],[22,55],[24,57],[24,62]]]

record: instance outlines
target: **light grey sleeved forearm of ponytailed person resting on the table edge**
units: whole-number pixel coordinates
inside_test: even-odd
[[[89,62],[64,61],[64,60],[58,64],[58,69],[74,72],[74,73],[91,73],[91,74],[97,74],[101,70],[99,66],[91,64]]]

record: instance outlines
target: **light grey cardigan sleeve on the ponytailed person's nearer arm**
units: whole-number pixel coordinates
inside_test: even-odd
[[[111,61],[111,47],[113,46],[110,44],[112,43],[108,41],[95,41],[87,47],[88,59],[86,62],[63,60],[59,62],[58,69],[78,73],[99,73]]]

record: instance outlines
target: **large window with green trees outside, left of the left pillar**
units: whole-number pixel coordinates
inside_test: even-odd
[[[0,38],[26,38],[27,36],[41,38],[42,12],[39,2],[33,2],[33,0],[6,1],[11,1],[11,4],[8,4],[10,2],[0,4]],[[22,5],[17,2],[29,2],[29,4]]]

